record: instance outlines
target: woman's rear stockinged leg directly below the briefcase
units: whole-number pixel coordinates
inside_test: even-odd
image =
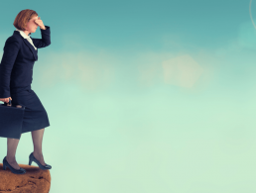
[[[16,149],[17,149],[19,142],[20,142],[20,140],[18,140],[18,139],[11,139],[11,138],[7,139],[6,160],[15,169],[20,169],[20,166],[18,165],[16,158],[15,158]]]

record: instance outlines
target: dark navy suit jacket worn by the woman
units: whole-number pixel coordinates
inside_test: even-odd
[[[41,30],[42,39],[31,38],[36,48],[51,45],[50,27]],[[0,98],[11,97],[10,89],[19,89],[31,85],[33,66],[38,60],[36,50],[20,32],[14,31],[4,46],[4,53],[0,64]]]

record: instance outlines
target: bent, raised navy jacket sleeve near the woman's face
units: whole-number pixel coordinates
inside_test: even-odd
[[[51,45],[50,27],[49,26],[45,26],[45,27],[47,28],[46,30],[40,29],[42,39],[31,38],[36,48],[45,48]]]

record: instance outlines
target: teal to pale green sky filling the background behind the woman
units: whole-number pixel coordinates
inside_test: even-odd
[[[1,54],[21,10],[51,27],[32,83],[51,124],[50,193],[255,192],[256,1],[253,20],[249,5],[1,2]],[[32,151],[25,133],[17,162],[28,164]]]

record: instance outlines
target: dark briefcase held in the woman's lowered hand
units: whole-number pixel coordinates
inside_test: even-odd
[[[22,122],[26,106],[0,104],[0,137],[20,140],[22,134]]]

